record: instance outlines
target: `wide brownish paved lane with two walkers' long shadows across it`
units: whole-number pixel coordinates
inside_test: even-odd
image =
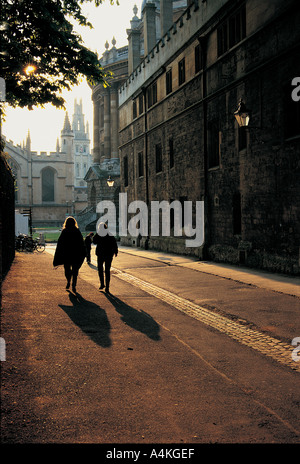
[[[51,261],[19,254],[4,283],[4,442],[299,441],[289,366],[121,279],[120,269],[112,296],[99,292],[94,264],[83,265],[79,293],[68,292]],[[147,282],[146,268],[132,271]]]

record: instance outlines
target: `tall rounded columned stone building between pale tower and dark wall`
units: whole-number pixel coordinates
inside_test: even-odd
[[[94,109],[92,165],[84,180],[88,189],[88,204],[77,216],[82,230],[94,230],[99,201],[111,200],[118,203],[120,190],[120,159],[118,153],[118,88],[128,75],[128,47],[116,48],[113,38],[112,48],[105,44],[100,64],[109,69],[113,78],[108,79],[109,86],[98,84],[92,87]],[[114,182],[107,184],[108,178]]]

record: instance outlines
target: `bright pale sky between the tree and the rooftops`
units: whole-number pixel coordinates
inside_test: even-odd
[[[112,39],[116,39],[116,47],[128,45],[126,29],[130,28],[130,21],[134,16],[134,5],[138,7],[137,16],[141,16],[142,0],[119,0],[119,5],[110,5],[109,0],[99,7],[93,3],[83,5],[83,12],[94,29],[74,27],[84,40],[84,45],[96,51],[99,58],[105,51],[105,42],[108,41],[109,48],[112,47]],[[74,112],[74,100],[82,98],[85,123],[89,123],[89,135],[91,148],[93,146],[93,105],[91,100],[91,89],[85,79],[71,91],[65,91],[63,97],[66,100],[66,111],[72,124]],[[51,152],[56,150],[57,137],[63,128],[65,110],[58,110],[53,105],[45,105],[44,108],[34,107],[32,111],[25,108],[11,108],[6,106],[6,118],[2,123],[2,133],[15,145],[22,145],[26,141],[28,131],[31,137],[32,151]]]

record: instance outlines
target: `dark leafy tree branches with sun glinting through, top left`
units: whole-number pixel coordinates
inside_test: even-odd
[[[99,6],[102,1],[0,0],[0,76],[5,79],[9,105],[63,107],[61,91],[77,85],[82,77],[106,83],[97,54],[83,45],[70,22],[92,27],[82,4]]]

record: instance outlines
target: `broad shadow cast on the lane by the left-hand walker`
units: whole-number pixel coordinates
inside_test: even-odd
[[[69,298],[72,306],[59,305],[59,307],[93,342],[103,348],[109,348],[110,323],[104,309],[86,300],[80,293],[69,292]]]

